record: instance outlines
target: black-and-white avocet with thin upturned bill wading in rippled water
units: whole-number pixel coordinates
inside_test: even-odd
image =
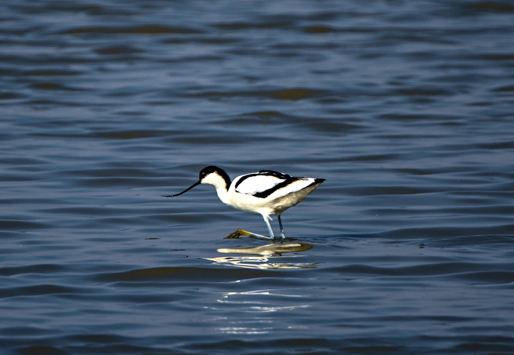
[[[260,214],[266,222],[269,232],[269,235],[266,236],[236,230],[236,232],[240,232],[239,235],[265,240],[283,240],[286,235],[282,226],[281,213],[301,202],[323,181],[325,179],[293,177],[274,170],[260,170],[256,173],[240,175],[231,181],[225,170],[209,165],[200,171],[198,181],[186,190],[175,195],[163,195],[163,197],[177,197],[198,185],[213,185],[216,187],[221,202],[236,208],[236,210]],[[276,215],[278,219],[280,236],[273,233],[269,222],[272,220],[271,215]]]

